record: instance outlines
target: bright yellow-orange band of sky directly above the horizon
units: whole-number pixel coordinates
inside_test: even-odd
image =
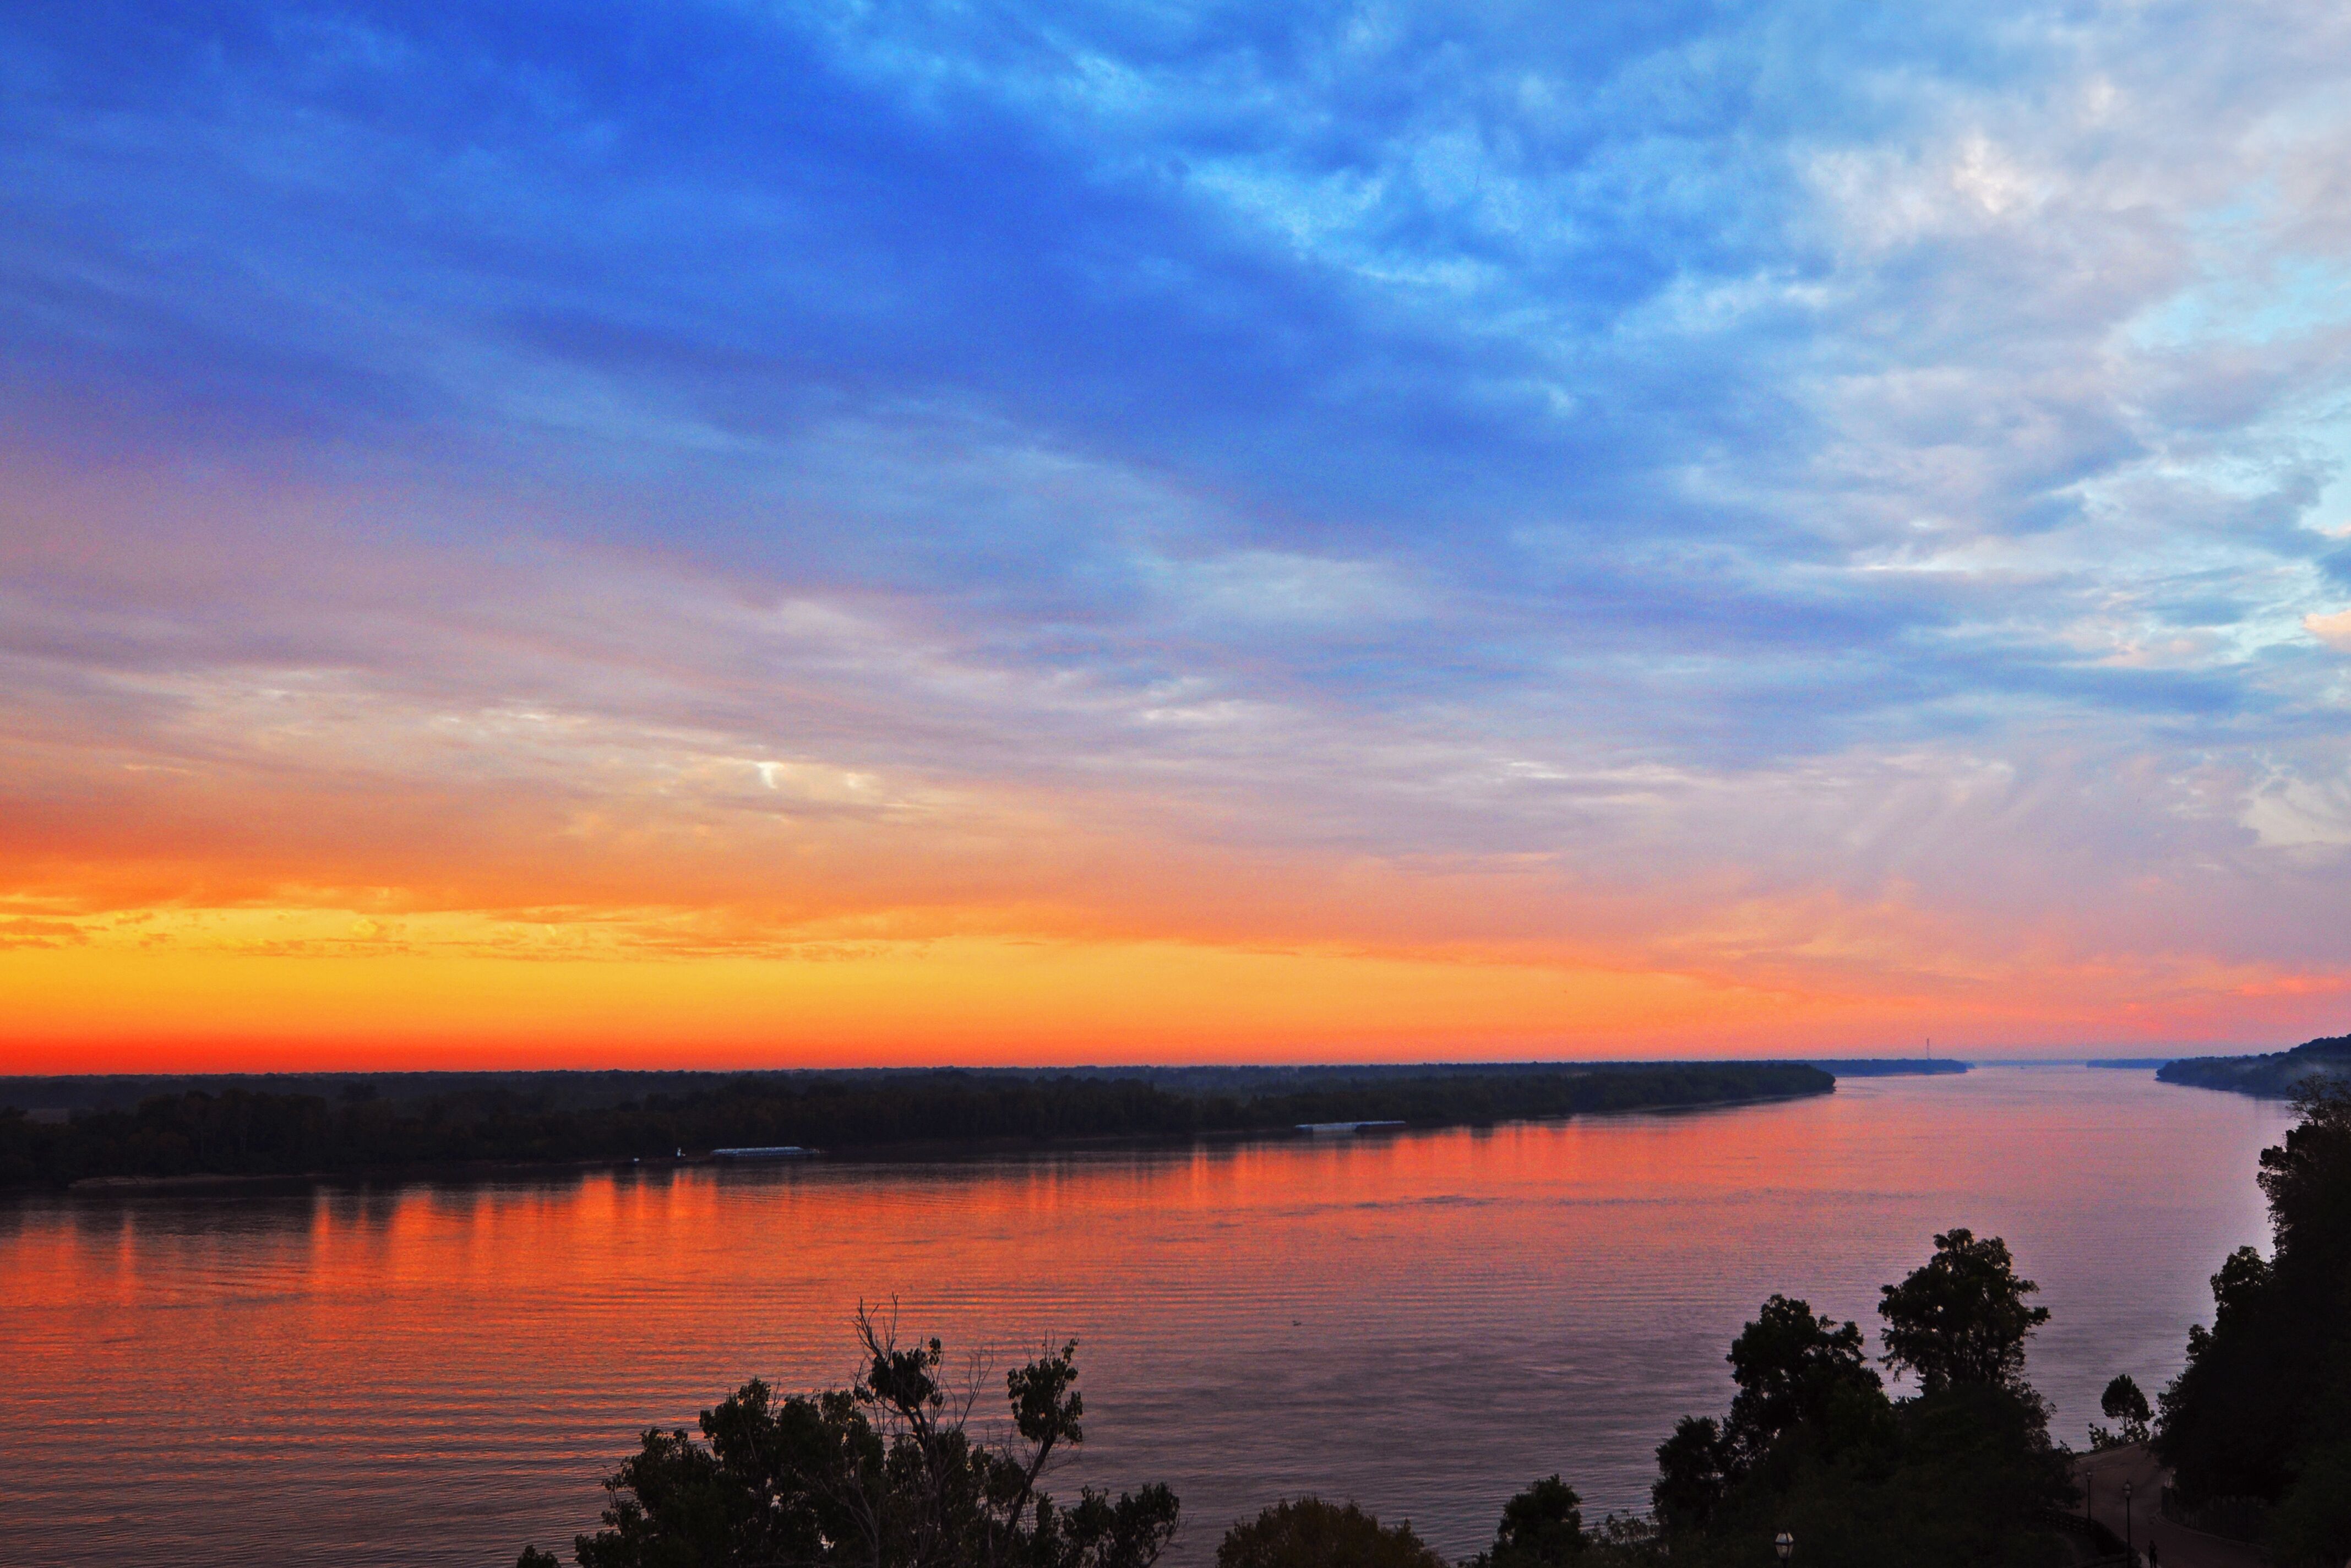
[[[945,936],[658,957],[592,933],[564,952],[550,929],[527,954],[484,947],[468,919],[397,922],[397,940],[348,912],[174,919],[0,952],[0,1070],[1890,1056],[1918,1048],[1921,1016],[1961,1053],[2055,1011],[2029,992],[1801,990],[1523,950]],[[2144,1006],[2074,980],[2074,1039],[2111,1037],[2116,1011],[2151,1039],[2198,1018],[2193,997]],[[2231,1013],[2342,999],[2325,978],[2198,983]]]

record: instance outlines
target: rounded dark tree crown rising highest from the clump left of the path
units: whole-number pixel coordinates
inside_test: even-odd
[[[2024,1302],[2038,1288],[2017,1279],[1998,1237],[1977,1241],[1968,1229],[1935,1237],[1925,1267],[1883,1288],[1886,1366],[1918,1373],[1923,1394],[1958,1385],[2022,1389],[2024,1340],[2050,1321],[2048,1307]]]

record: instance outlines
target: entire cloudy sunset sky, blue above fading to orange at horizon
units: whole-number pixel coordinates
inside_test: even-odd
[[[2351,1030],[2339,5],[12,5],[0,1067]]]

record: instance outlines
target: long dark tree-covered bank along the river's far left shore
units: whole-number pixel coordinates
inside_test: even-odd
[[[560,1074],[531,1074],[560,1077]],[[153,1095],[71,1119],[0,1110],[0,1185],[85,1178],[303,1175],[470,1161],[668,1159],[717,1147],[1056,1143],[1279,1133],[1314,1121],[1474,1126],[1531,1117],[1829,1093],[1801,1063],[1653,1063],[1425,1072],[1178,1093],[1140,1079],[976,1072],[738,1077],[604,1105],[560,1086],[336,1098],[242,1086]]]

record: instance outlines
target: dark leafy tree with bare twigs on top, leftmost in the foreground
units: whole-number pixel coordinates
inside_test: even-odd
[[[581,1568],[1150,1568],[1176,1533],[1176,1495],[1081,1490],[1058,1507],[1039,1481],[1084,1441],[1077,1345],[1004,1380],[1011,1436],[971,1434],[978,1382],[940,1378],[938,1340],[900,1347],[858,1314],[865,1373],[849,1389],[776,1399],[748,1382],[703,1410],[703,1441],[647,1432],[604,1483],[604,1528]],[[520,1568],[555,1559],[527,1549]]]

